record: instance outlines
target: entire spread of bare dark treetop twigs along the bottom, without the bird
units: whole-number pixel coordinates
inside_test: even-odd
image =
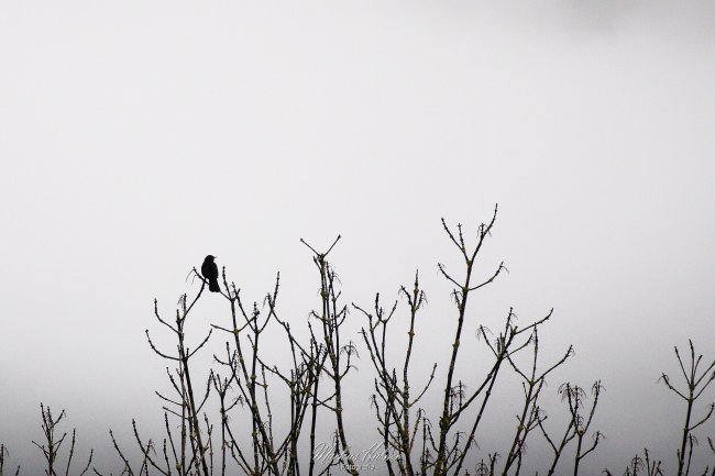
[[[389,476],[518,476],[532,472],[527,469],[527,447],[529,442],[538,439],[547,447],[544,454],[550,451],[544,468],[548,476],[564,472],[578,476],[583,460],[604,438],[600,431],[593,430],[603,386],[600,380],[595,381],[588,397],[579,385],[564,383],[559,387],[559,394],[565,406],[565,425],[552,428],[547,422],[547,411],[540,403],[546,379],[573,355],[573,348],[569,346],[554,362],[541,362],[539,335],[551,319],[552,310],[519,326],[514,310],[509,309],[496,334],[484,325],[477,325],[479,341],[488,358],[479,366],[470,365],[470,372],[458,369],[463,362],[464,333],[470,325],[470,298],[506,270],[501,263],[488,277],[476,278],[480,253],[491,236],[496,215],[495,209],[491,221],[479,226],[473,245],[468,244],[461,224],[450,228],[442,221],[447,236],[463,259],[463,277],[457,278],[457,274],[442,264],[438,266],[441,276],[453,287],[451,297],[454,302],[454,318],[448,331],[451,348],[441,372],[435,363],[426,373],[419,374],[420,380],[415,383],[416,331],[427,302],[418,273],[414,285],[409,288],[403,286],[399,298],[387,308],[383,307],[380,295],[369,308],[355,303],[350,307],[363,319],[360,336],[374,372],[371,403],[382,452],[380,466],[365,465],[362,458],[358,458],[351,446],[351,441],[356,438],[346,424],[350,410],[344,407],[349,387],[345,378],[355,368],[353,359],[358,356],[358,347],[345,335],[343,325],[350,316],[349,307],[343,303],[337,274],[328,261],[340,240],[338,236],[326,252],[319,252],[301,240],[312,254],[320,283],[319,306],[310,312],[305,340],[298,339],[278,312],[279,275],[261,305],[248,303],[241,289],[227,278],[224,268],[220,295],[227,302],[228,316],[223,322],[212,323],[196,344],[187,340],[185,324],[207,290],[207,281],[198,270],[191,273],[200,281],[200,288],[190,299],[188,295],[182,296],[173,320],[162,317],[158,303],[154,302],[155,319],[170,331],[176,343],[170,351],[161,348],[146,330],[151,348],[169,364],[166,372],[170,392],[156,391],[163,402],[165,435],[160,440],[145,439],[138,423],[132,421],[140,454],[136,457],[135,453],[127,452],[110,431],[122,465],[119,475],[322,476],[348,473],[356,476],[361,472],[376,471]],[[392,335],[388,329],[403,325],[400,322],[405,321],[396,319],[403,309],[407,318],[406,352],[394,364],[391,355],[397,343],[388,337]],[[273,363],[275,356],[262,345],[270,329],[284,335],[288,365]],[[206,348],[213,331],[226,335],[227,340],[221,354],[213,355],[213,368],[208,370],[208,375],[200,376],[193,358]],[[697,443],[694,431],[715,411],[715,405],[711,405],[703,417],[694,417],[696,400],[715,379],[715,362],[702,367],[702,355],[695,356],[692,342],[690,351],[690,358],[684,362],[675,347],[685,377],[683,388],[675,386],[666,374],[661,377],[686,406],[682,444],[676,451],[678,476],[692,474],[692,455]],[[482,374],[477,368],[482,368]],[[476,440],[494,399],[495,387],[504,380],[504,375],[516,377],[521,388],[516,424],[505,425],[513,429],[513,434],[504,452],[484,454]],[[438,408],[429,408],[425,405],[426,396],[436,392],[440,396],[440,403]],[[283,398],[279,416],[273,411],[278,398]],[[55,429],[65,413],[63,411],[55,418],[44,406],[41,411],[45,441],[35,445],[47,462],[45,473],[54,476],[58,474],[59,450],[67,435],[58,438]],[[324,434],[329,435],[330,445],[319,443],[319,436]],[[708,443],[715,455],[711,439]],[[65,476],[69,475],[74,450],[73,431]],[[0,446],[0,476],[3,475],[7,455],[6,447]],[[87,473],[91,461],[92,453],[79,476]],[[99,476],[106,474],[92,469]],[[610,475],[608,471],[605,473]],[[14,474],[20,474],[19,467]],[[701,474],[715,476],[715,464]],[[631,460],[624,475],[663,475],[662,464],[645,450],[642,457],[637,455]]]

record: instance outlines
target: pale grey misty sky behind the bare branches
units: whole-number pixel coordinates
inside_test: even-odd
[[[41,400],[80,438],[155,418],[152,300],[208,253],[254,299],[279,269],[302,322],[298,239],[341,233],[349,301],[420,268],[440,329],[439,219],[498,202],[474,322],[556,308],[550,391],[607,389],[600,467],[672,458],[656,380],[688,337],[715,357],[714,59],[712,1],[0,3],[0,441],[34,452]]]

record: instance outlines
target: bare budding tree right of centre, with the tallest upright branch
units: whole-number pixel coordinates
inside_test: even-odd
[[[487,403],[505,363],[506,367],[510,366],[522,379],[525,400],[517,416],[513,442],[505,453],[502,474],[507,475],[513,472],[518,475],[528,434],[538,427],[540,421],[541,410],[537,402],[546,377],[572,355],[572,348],[569,347],[562,358],[546,369],[538,370],[538,329],[551,318],[552,311],[544,318],[519,329],[516,324],[516,316],[510,309],[503,330],[494,340],[488,335],[490,332],[485,326],[477,326],[477,336],[492,354],[491,362],[486,363],[485,374],[477,376],[475,381],[463,381],[457,378],[455,369],[460,362],[469,297],[491,284],[506,269],[502,263],[487,278],[474,283],[477,256],[486,239],[491,236],[496,212],[495,209],[490,223],[479,226],[476,243],[472,247],[466,244],[461,224],[452,230],[442,221],[448,237],[464,261],[464,278],[461,281],[458,281],[444,265],[440,264],[438,267],[442,277],[454,286],[451,297],[457,314],[453,321],[449,365],[442,377],[437,376],[437,364],[433,364],[429,375],[419,383],[417,390],[413,390],[409,370],[416,339],[417,316],[426,303],[426,294],[420,288],[418,273],[415,275],[414,286],[409,289],[402,286],[399,292],[399,297],[406,303],[408,316],[407,350],[399,368],[392,365],[387,358],[388,350],[394,345],[394,342],[387,337],[388,329],[398,313],[399,300],[384,308],[381,296],[376,295],[370,310],[353,305],[354,309],[367,319],[367,325],[362,329],[361,334],[376,374],[372,403],[377,419],[377,431],[382,438],[387,473],[391,476],[427,475],[428,473],[461,475],[465,469],[468,456],[476,446],[477,429],[483,421]],[[532,351],[531,366],[529,370],[522,370],[517,364],[516,356],[529,347]],[[437,419],[439,425],[435,429],[432,420],[428,417],[429,410],[418,405],[437,378],[444,378],[446,384],[442,387],[442,411]],[[475,473],[494,474],[498,460],[498,453],[490,454],[488,462],[482,460]]]

